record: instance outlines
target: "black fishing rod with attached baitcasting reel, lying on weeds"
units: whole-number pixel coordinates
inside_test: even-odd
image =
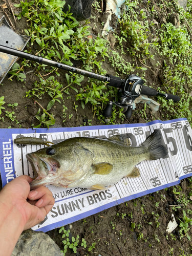
[[[180,100],[179,96],[172,94],[163,94],[157,92],[155,89],[144,86],[144,81],[137,75],[128,75],[126,79],[121,79],[117,76],[112,76],[107,74],[105,76],[99,75],[93,72],[89,72],[86,70],[74,68],[63,63],[59,63],[57,61],[53,61],[47,58],[42,58],[40,56],[36,56],[30,53],[22,52],[19,50],[12,49],[10,47],[0,45],[0,52],[11,54],[16,57],[20,57],[23,59],[29,59],[35,61],[39,64],[49,65],[51,67],[55,67],[58,69],[63,69],[67,71],[71,71],[83,76],[88,76],[103,82],[108,82],[108,86],[118,88],[118,101],[109,101],[108,105],[106,105],[105,110],[103,111],[103,116],[110,117],[112,114],[113,105],[119,106],[119,108],[125,108],[125,116],[130,119],[132,116],[133,109],[133,101],[140,96],[140,94],[144,94],[147,96],[160,96],[164,97],[166,100],[173,99],[174,102],[178,102]]]

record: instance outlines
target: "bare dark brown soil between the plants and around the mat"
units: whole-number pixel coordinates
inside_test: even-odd
[[[9,1],[10,3],[18,4],[18,0]],[[104,1],[103,1],[104,2]],[[156,1],[154,1],[156,2]],[[0,4],[4,4],[3,0],[0,0]],[[147,1],[143,1],[141,4],[141,8],[146,8]],[[158,12],[158,10],[156,10]],[[14,19],[12,13],[9,8],[5,9],[5,12],[10,17],[12,23],[14,24]],[[13,12],[15,14],[19,13],[19,9],[13,7]],[[4,15],[2,9],[0,9],[0,18]],[[97,17],[97,18],[94,18]],[[158,13],[158,22],[161,23],[161,20],[164,18],[162,12]],[[100,33],[100,29],[102,29],[101,22],[106,20],[106,15],[97,13],[97,10],[92,8],[92,18],[90,18],[90,26],[95,28],[91,29],[93,35],[97,35]],[[114,19],[113,19],[114,20]],[[149,18],[150,20],[150,18]],[[95,24],[97,26],[95,26]],[[27,28],[27,23],[25,22],[25,18],[17,20],[17,32],[19,34],[25,34],[24,29]],[[115,48],[115,44],[113,44],[113,35],[111,34],[111,44]],[[30,47],[30,44],[26,49]],[[35,48],[37,46],[34,45],[32,47],[32,53],[35,53]],[[131,59],[133,57],[127,56],[127,59]],[[158,55],[156,55],[158,58]],[[146,85],[153,86],[156,84],[156,88],[161,87],[161,82],[163,79],[162,76],[162,63],[163,60],[158,59],[161,62],[160,68],[156,70],[156,76],[151,70],[147,70],[145,74]],[[22,60],[18,60],[20,64]],[[133,59],[132,59],[133,61]],[[135,61],[135,60],[134,60]],[[138,60],[137,60],[138,61]],[[149,65],[153,65],[154,60],[149,60],[151,63]],[[78,67],[79,63],[74,62],[74,65]],[[115,75],[115,70],[110,66],[108,61],[103,63],[103,68],[110,74]],[[27,73],[27,68],[25,69],[25,73]],[[124,75],[123,75],[124,76]],[[32,98],[26,98],[26,92],[32,88],[32,84],[35,79],[35,75],[32,73],[28,73],[25,83],[20,82],[16,78],[13,81],[10,81],[9,75],[5,77],[3,83],[1,84],[1,95],[5,96],[5,108],[6,110],[12,112],[13,109],[11,106],[8,106],[9,103],[13,104],[15,102],[18,103],[18,106],[14,108],[14,116],[15,121],[11,121],[6,117],[5,111],[3,111],[2,117],[4,121],[1,120],[1,128],[29,128],[31,127],[32,118],[37,113],[39,106],[34,104],[34,100]],[[125,77],[122,77],[123,79]],[[67,86],[65,72],[61,73],[61,77],[59,78],[62,81],[63,86]],[[88,120],[92,120],[92,125],[102,125],[97,117],[93,118],[93,112],[91,104],[87,104],[86,108],[83,110],[81,108],[80,101],[75,100],[76,92],[71,90],[70,96],[71,98],[65,98],[65,105],[67,106],[67,116],[69,114],[73,114],[73,118],[66,119],[63,122],[62,117],[62,106],[61,104],[55,104],[55,108],[52,113],[56,119],[56,122],[51,127],[74,127],[87,124]],[[40,101],[41,105],[47,106],[50,98],[43,97]],[[76,111],[74,110],[74,103],[78,104],[77,108],[77,117]],[[143,109],[143,104],[139,104],[137,106],[137,110]],[[162,119],[161,109],[154,116],[150,111],[147,111],[147,117],[150,120],[154,119]],[[18,123],[16,122],[18,121]],[[130,120],[124,120],[123,123],[143,123],[145,120],[142,118],[138,112],[133,113],[132,118]],[[121,123],[121,120],[116,120],[116,123]],[[185,194],[185,197],[188,197],[190,192],[189,181],[188,179],[184,179],[180,184],[182,188],[182,193]],[[161,195],[165,196],[164,200],[161,200]],[[92,245],[92,243],[96,243],[95,249],[93,252],[88,251],[88,247],[83,249],[82,247],[78,248],[76,255],[132,255],[132,256],[143,256],[143,255],[191,255],[192,247],[189,240],[184,237],[180,238],[178,226],[173,237],[166,232],[166,227],[168,222],[171,219],[171,215],[175,212],[175,216],[179,219],[183,217],[183,208],[177,209],[177,211],[173,211],[172,205],[175,201],[177,201],[173,196],[173,187],[170,187],[168,190],[161,190],[159,193],[153,193],[151,195],[147,195],[132,201],[128,201],[126,203],[114,206],[110,209],[99,212],[99,214],[95,214],[86,218],[86,220],[77,221],[72,223],[69,227],[72,233],[72,236],[75,238],[77,235],[80,237],[80,241],[84,238],[87,241],[88,247]],[[156,203],[159,202],[158,207],[156,207]],[[142,206],[144,205],[144,206]],[[144,211],[141,211],[141,206],[144,208]],[[191,203],[188,203],[187,209],[192,210]],[[185,208],[186,210],[186,208]],[[119,213],[119,216],[117,214]],[[126,214],[124,218],[121,218],[121,214]],[[155,216],[159,215],[158,223]],[[179,220],[176,218],[177,223],[179,224]],[[189,216],[190,218],[190,216]],[[113,222],[114,226],[112,226],[111,222]],[[133,228],[133,224],[135,223],[135,228]],[[113,227],[115,227],[113,229]],[[189,226],[190,227],[190,226]],[[58,232],[59,229],[54,229],[49,232],[49,236],[55,241],[55,243],[63,249],[61,234]],[[190,228],[188,234],[190,235],[192,229]],[[79,243],[80,244],[80,243]],[[173,249],[172,249],[173,248]],[[73,251],[68,248],[66,255],[74,255]]]

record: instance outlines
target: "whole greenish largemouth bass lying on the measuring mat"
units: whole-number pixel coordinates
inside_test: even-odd
[[[75,137],[41,148],[26,155],[34,180],[39,186],[83,187],[105,189],[123,177],[139,177],[135,166],[144,160],[157,160],[168,155],[161,143],[160,130],[155,130],[140,146],[130,146],[129,135],[109,139]]]

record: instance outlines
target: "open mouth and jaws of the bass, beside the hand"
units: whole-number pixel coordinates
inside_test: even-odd
[[[30,183],[31,189],[46,186],[58,180],[57,170],[60,164],[56,159],[39,157],[35,153],[27,154],[26,158],[34,173],[34,180]]]

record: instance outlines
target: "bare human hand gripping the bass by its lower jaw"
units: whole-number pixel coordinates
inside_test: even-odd
[[[30,191],[29,183],[32,180],[27,175],[19,176],[9,182],[0,193],[0,202],[10,209],[16,208],[18,215],[22,216],[23,230],[43,221],[55,202],[47,187],[41,186]]]

